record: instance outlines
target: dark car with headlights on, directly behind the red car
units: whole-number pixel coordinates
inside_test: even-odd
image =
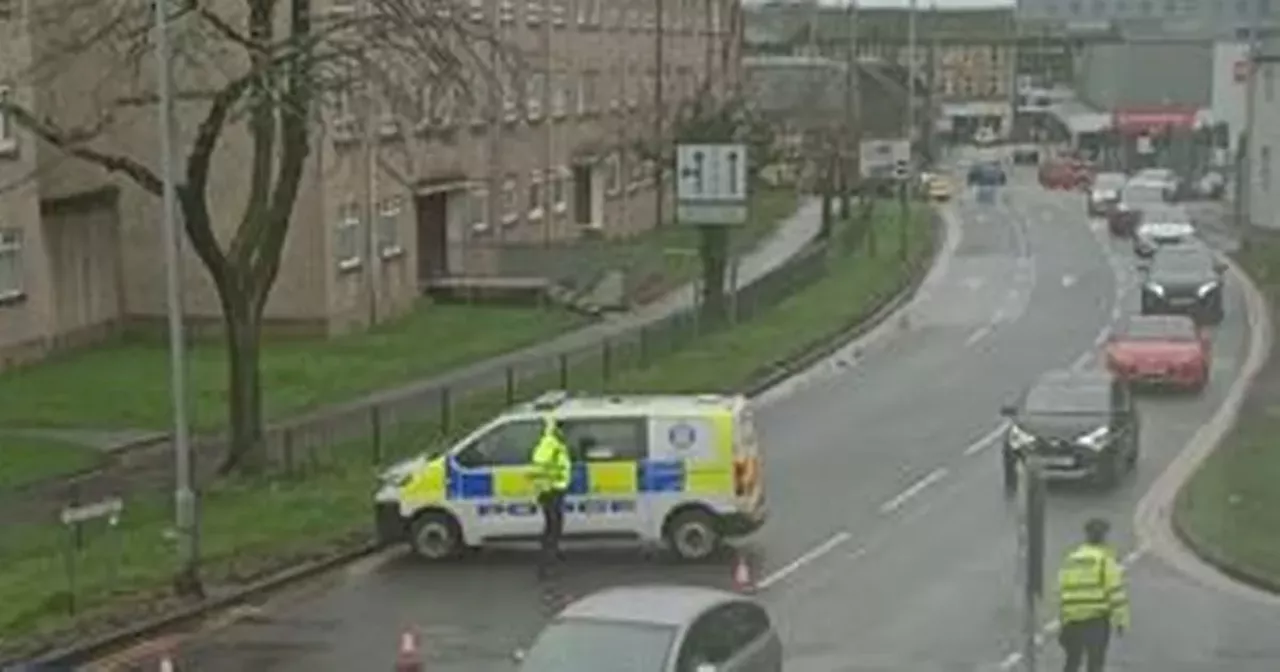
[[[1199,324],[1219,324],[1225,308],[1226,265],[1203,243],[1161,246],[1142,266],[1142,314],[1190,315]]]

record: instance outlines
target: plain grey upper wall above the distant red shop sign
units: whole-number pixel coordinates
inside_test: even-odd
[[[1133,105],[1196,105],[1212,100],[1213,44],[1091,45],[1076,70],[1076,92],[1101,110]]]

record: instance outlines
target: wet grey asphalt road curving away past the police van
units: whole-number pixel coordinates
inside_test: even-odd
[[[997,410],[1046,370],[1096,365],[1108,325],[1137,308],[1135,266],[1126,243],[1085,219],[1079,195],[1043,192],[1029,173],[1002,202],[963,196],[951,212],[963,232],[956,253],[899,333],[760,402],[772,518],[744,549],[783,634],[788,671],[1015,668],[1015,511],[1000,486]],[[1053,489],[1050,558],[1093,515],[1112,520],[1123,554],[1133,550],[1134,504],[1213,412],[1243,360],[1235,289],[1213,338],[1211,389],[1142,402],[1134,477],[1111,493]],[[390,669],[406,626],[422,634],[428,669],[513,669],[509,653],[547,613],[530,559],[494,552],[442,567],[365,563],[187,641],[179,669]],[[730,564],[584,550],[558,589],[727,586]],[[1133,559],[1130,584],[1134,631],[1114,649],[1114,669],[1280,669],[1275,611],[1201,589],[1146,557]],[[1044,669],[1060,664],[1048,649]]]

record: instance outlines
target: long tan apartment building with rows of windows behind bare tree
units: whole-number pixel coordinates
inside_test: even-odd
[[[329,0],[324,12],[356,1]],[[657,3],[442,0],[442,12],[492,27],[531,65],[492,97],[429,91],[421,111],[378,104],[366,114],[357,95],[325,105],[266,306],[273,328],[361,329],[404,314],[430,279],[503,273],[508,246],[652,228],[658,180],[628,147],[652,134],[655,87],[668,109],[704,82],[723,93],[740,56],[737,0],[662,1],[659,28]],[[77,128],[154,91],[150,68],[140,78],[101,51],[60,59],[55,77],[28,77],[32,63],[51,60],[55,40],[23,6],[36,5],[0,0],[0,96]],[[175,87],[200,90],[216,76],[179,64]],[[205,104],[177,109],[184,151]],[[93,147],[157,166],[155,106],[122,110]],[[229,129],[209,187],[224,242],[239,221],[247,157],[247,137]],[[0,184],[0,369],[164,314],[156,197],[3,118]],[[183,276],[188,316],[216,323],[211,283],[191,253]]]

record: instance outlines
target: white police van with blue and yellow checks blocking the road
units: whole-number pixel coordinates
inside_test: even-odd
[[[387,470],[375,495],[383,544],[444,559],[543,527],[530,456],[545,416],[572,460],[564,540],[664,544],[704,559],[765,520],[760,449],[741,396],[544,394],[435,456]]]

